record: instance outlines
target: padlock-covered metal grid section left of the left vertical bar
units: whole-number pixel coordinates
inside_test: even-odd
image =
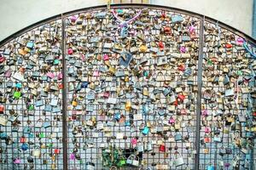
[[[63,166],[58,88],[61,79],[57,78],[61,72],[60,39],[61,20],[55,20],[1,47],[0,54],[5,59],[0,88],[4,109],[1,120],[3,124],[8,121],[6,126],[1,124],[1,169]],[[48,72],[53,72],[55,78],[49,78]],[[53,99],[58,102],[55,104]]]

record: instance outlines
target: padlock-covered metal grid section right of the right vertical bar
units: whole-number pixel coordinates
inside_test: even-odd
[[[218,22],[206,22],[204,37],[201,169],[253,169],[255,59]],[[214,93],[212,99],[204,96],[207,90]]]

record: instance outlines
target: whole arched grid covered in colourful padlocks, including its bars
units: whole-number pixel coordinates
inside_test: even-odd
[[[111,167],[104,156],[114,142],[132,159],[143,150],[141,167],[253,166],[255,60],[248,50],[255,40],[177,8],[112,8],[123,20],[147,9],[127,34],[99,6],[56,15],[0,43],[2,168]],[[145,151],[150,144],[159,158]],[[247,157],[238,161],[238,153]]]

